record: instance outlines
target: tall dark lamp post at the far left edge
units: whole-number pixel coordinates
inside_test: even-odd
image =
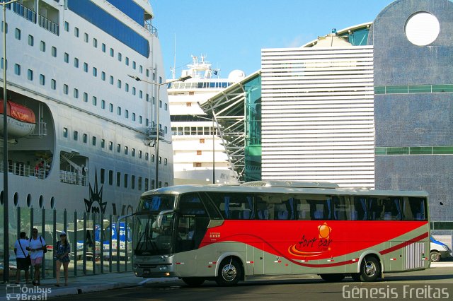
[[[4,255],[3,281],[9,281],[9,223],[8,223],[8,105],[6,102],[6,6],[18,0],[1,2],[3,6],[3,225],[4,225]]]

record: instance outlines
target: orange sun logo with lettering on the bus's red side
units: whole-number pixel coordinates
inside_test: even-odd
[[[318,236],[302,234],[301,240],[288,248],[289,254],[298,257],[320,256],[331,250],[332,228],[323,223],[318,226]]]

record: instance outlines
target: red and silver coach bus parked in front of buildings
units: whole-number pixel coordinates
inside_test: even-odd
[[[430,266],[425,191],[248,182],[147,191],[134,213],[134,273],[188,285],[316,273],[376,281]]]

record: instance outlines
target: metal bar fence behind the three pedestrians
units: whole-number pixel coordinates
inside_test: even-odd
[[[13,207],[8,220],[10,245],[5,247],[3,207],[0,207],[0,212],[0,259],[3,262],[5,254],[9,256],[10,279],[16,269],[14,243],[22,231],[31,237],[33,228],[38,229],[47,244],[42,278],[56,276],[53,250],[62,231],[67,233],[71,244],[69,276],[132,271],[132,218],[118,221],[117,216],[101,213]],[[0,269],[4,271],[3,265]]]

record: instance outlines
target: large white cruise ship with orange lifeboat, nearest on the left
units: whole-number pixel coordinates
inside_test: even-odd
[[[10,208],[121,215],[156,187],[156,165],[157,186],[173,184],[173,151],[165,143],[171,141],[170,114],[152,18],[147,0],[21,0],[8,6]]]

